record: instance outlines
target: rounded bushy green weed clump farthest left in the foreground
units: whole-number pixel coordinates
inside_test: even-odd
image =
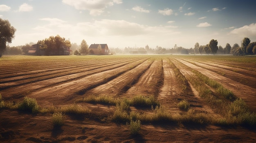
[[[37,104],[36,99],[24,97],[23,101],[18,105],[18,109],[34,114],[39,112],[39,105]]]

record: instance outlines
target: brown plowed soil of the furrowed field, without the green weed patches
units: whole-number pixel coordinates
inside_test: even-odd
[[[196,70],[243,99],[250,112],[256,112],[255,61],[253,56],[4,56],[0,59],[0,94],[5,103],[16,104],[23,97],[30,97],[36,99],[40,108],[76,103],[91,112],[79,118],[65,115],[65,124],[56,129],[52,113],[30,114],[0,108],[0,142],[256,142],[256,129],[248,126],[193,125],[182,121],[141,121],[139,134],[132,136],[128,125],[111,120],[116,106],[76,102],[90,96],[114,99],[153,96],[168,113],[176,116],[188,112],[177,107],[185,99],[196,113],[215,119],[224,117],[193,86],[190,77],[197,78],[193,72]],[[206,87],[213,95],[217,94],[212,87]],[[154,112],[151,108],[134,106],[130,110],[139,114]]]

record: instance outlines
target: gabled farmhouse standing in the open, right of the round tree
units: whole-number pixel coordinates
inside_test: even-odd
[[[101,50],[99,50],[99,45],[101,46]],[[109,49],[107,44],[91,44],[88,51],[90,54],[108,55]]]

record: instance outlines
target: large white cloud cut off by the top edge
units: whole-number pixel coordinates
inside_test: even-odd
[[[96,16],[101,15],[107,7],[121,4],[122,0],[62,0],[62,2],[78,10],[89,10],[90,15]]]

